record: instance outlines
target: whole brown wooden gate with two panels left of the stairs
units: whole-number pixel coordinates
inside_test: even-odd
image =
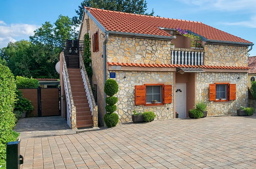
[[[60,89],[37,88],[19,89],[25,98],[29,99],[34,110],[29,117],[59,116],[60,114]]]

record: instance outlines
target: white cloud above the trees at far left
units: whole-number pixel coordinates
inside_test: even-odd
[[[6,47],[10,41],[15,42],[17,38],[28,38],[34,34],[34,30],[38,27],[29,24],[7,25],[3,20],[0,20],[0,48]]]

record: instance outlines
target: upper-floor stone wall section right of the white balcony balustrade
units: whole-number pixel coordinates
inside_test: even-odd
[[[228,45],[205,45],[205,65],[247,66],[247,47]]]

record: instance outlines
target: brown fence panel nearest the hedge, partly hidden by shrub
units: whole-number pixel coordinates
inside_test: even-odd
[[[36,117],[38,116],[37,110],[37,89],[18,89],[22,91],[22,94],[25,98],[29,99],[34,107],[33,111],[27,114],[27,117]]]

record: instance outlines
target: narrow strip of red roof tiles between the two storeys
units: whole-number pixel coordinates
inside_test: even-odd
[[[255,57],[256,59],[256,57]],[[171,64],[135,64],[135,63],[120,63],[120,62],[107,62],[110,66],[130,66],[130,67],[148,67],[148,68],[204,68],[204,69],[246,69],[249,70],[249,67],[237,67],[237,66],[197,66],[197,65],[171,65]],[[255,67],[256,69],[256,67]]]

